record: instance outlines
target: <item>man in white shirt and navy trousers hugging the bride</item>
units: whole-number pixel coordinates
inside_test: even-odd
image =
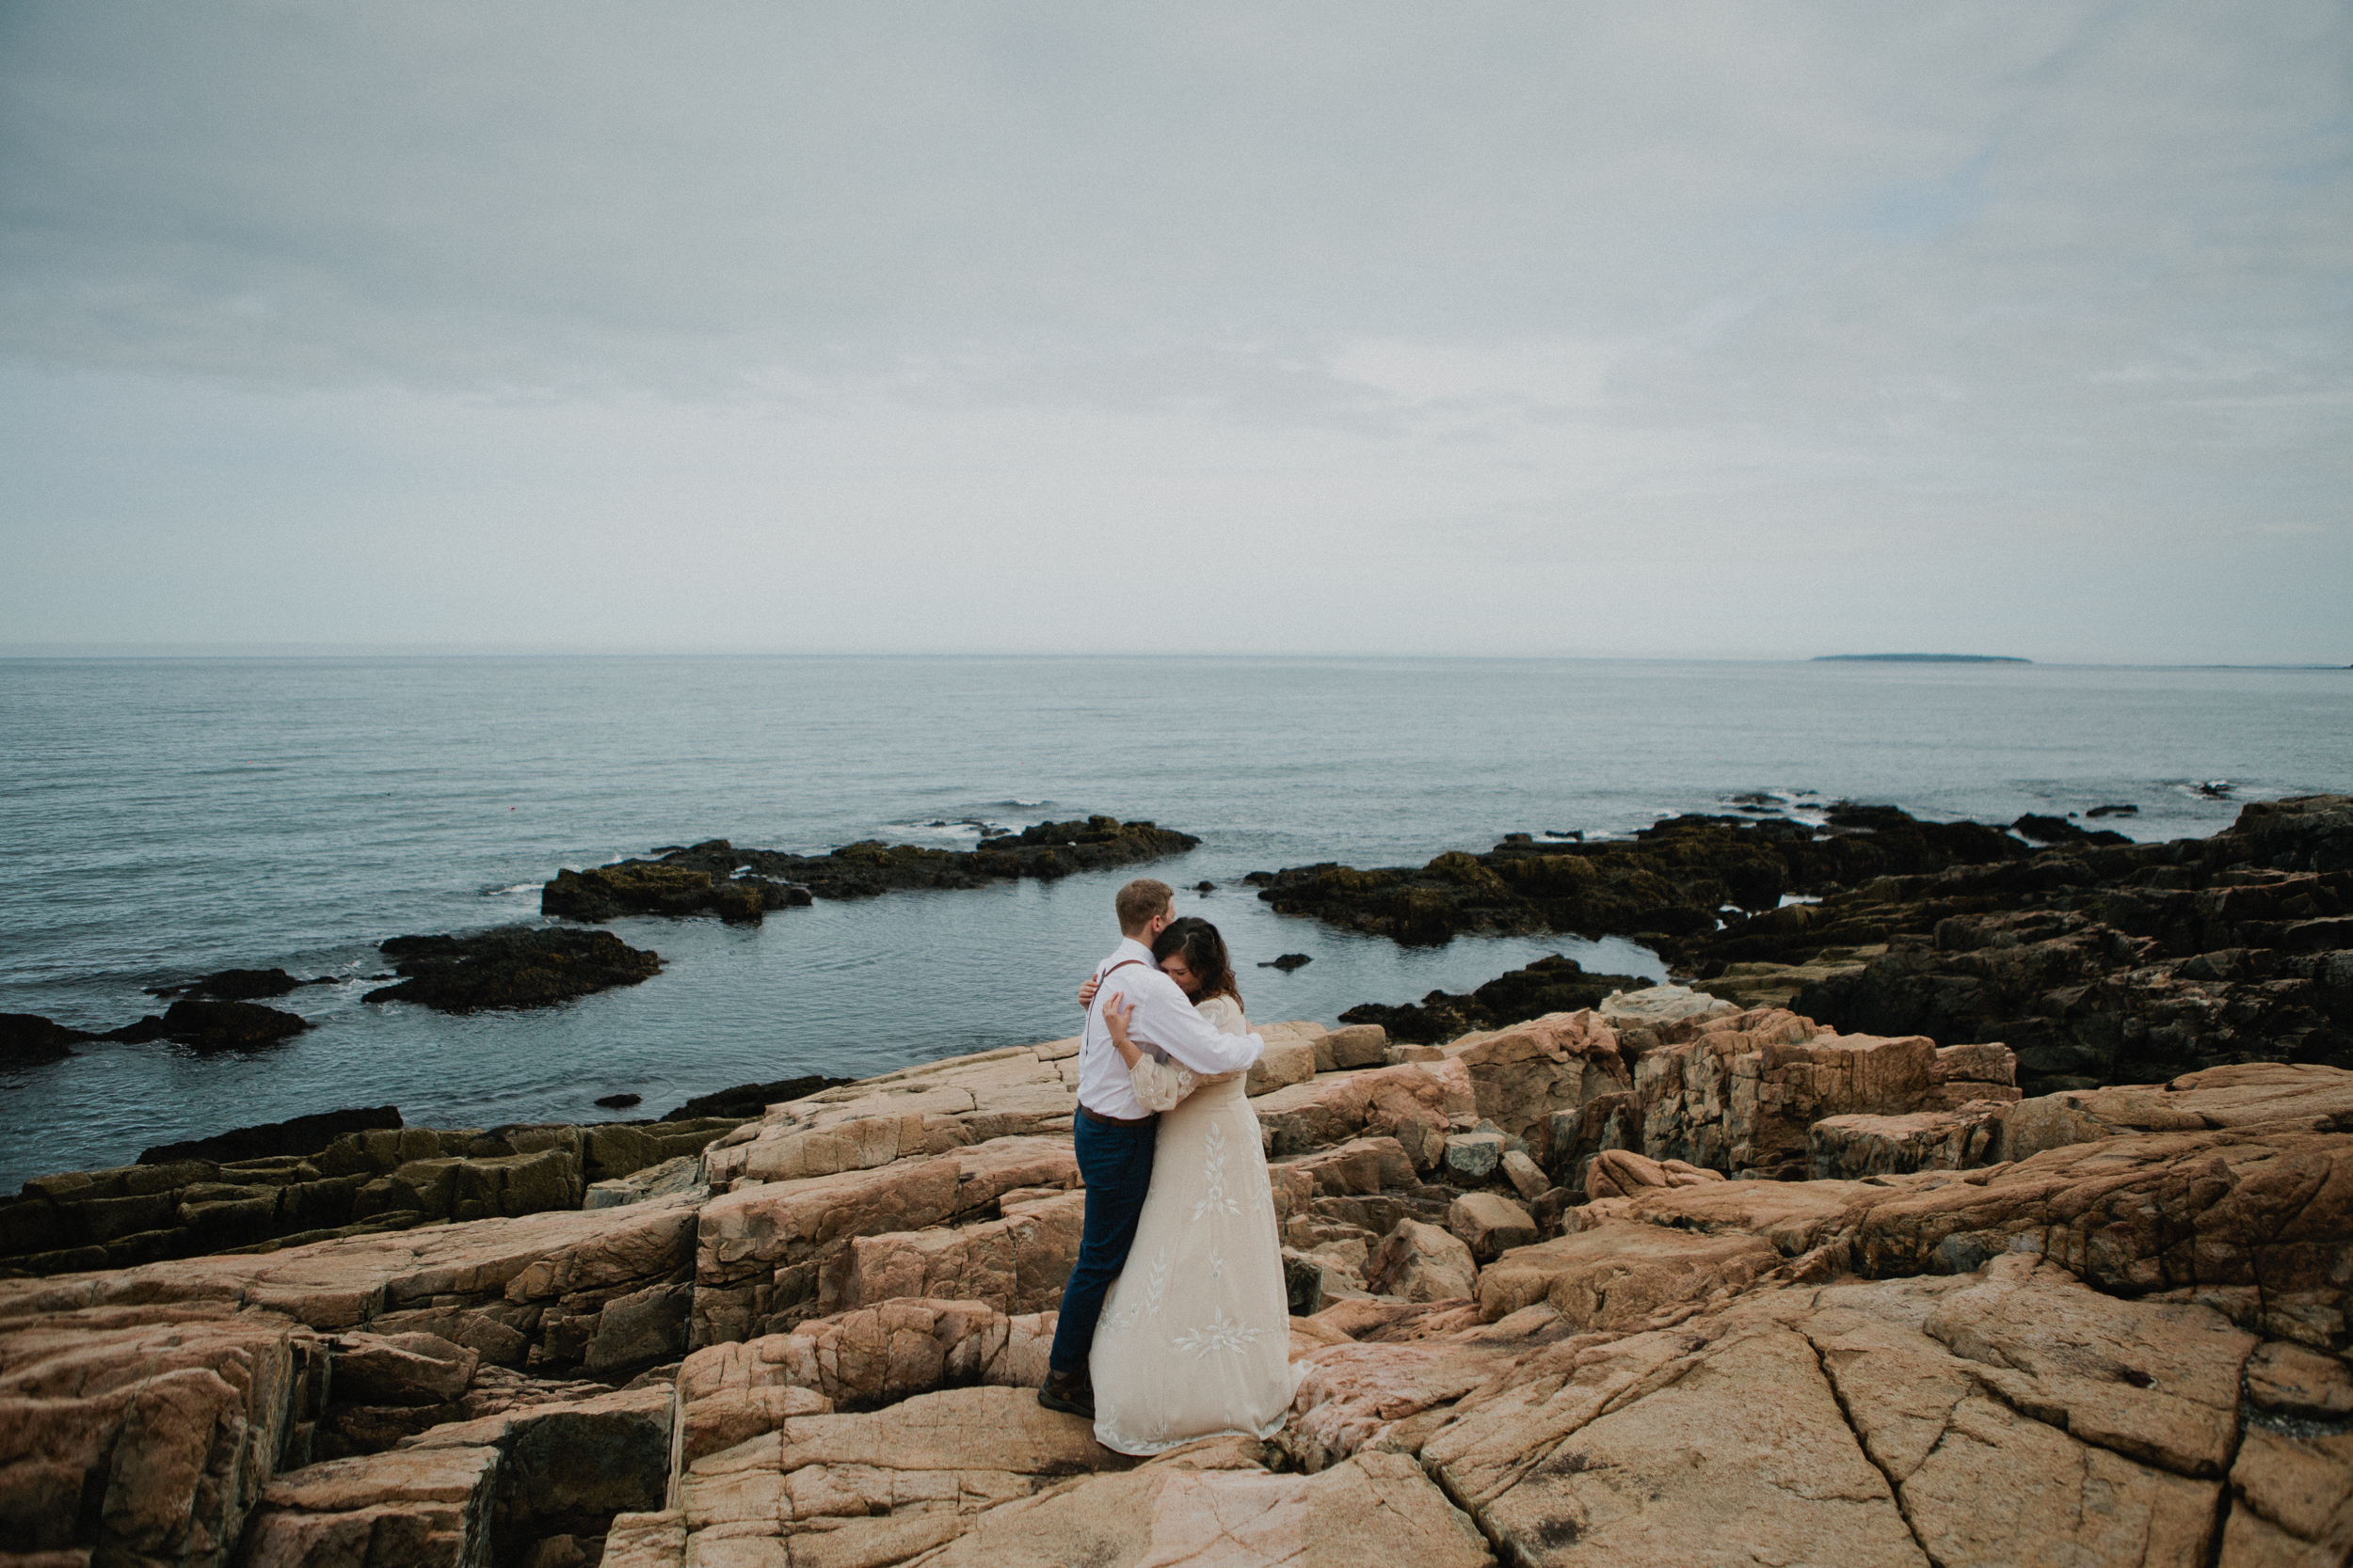
[[[1104,1009],[1122,997],[1132,1001],[1136,1013],[1127,1020],[1129,1039],[1202,1077],[1242,1072],[1266,1051],[1266,1041],[1257,1034],[1219,1034],[1153,961],[1148,943],[1176,914],[1169,884],[1151,877],[1129,882],[1113,907],[1120,914],[1122,940],[1094,966],[1101,990],[1087,1009],[1087,1030],[1078,1041],[1078,1114],[1071,1117],[1078,1175],[1087,1182],[1087,1229],[1078,1244],[1078,1267],[1061,1291],[1061,1321],[1054,1326],[1045,1387],[1038,1389],[1038,1403],[1047,1410],[1087,1420],[1094,1420],[1094,1380],[1087,1375],[1094,1319],[1101,1316],[1104,1293],[1127,1267],[1127,1248],[1136,1241],[1136,1218],[1153,1185],[1153,1140],[1160,1133],[1160,1119],[1146,1112],[1129,1088],[1127,1067],[1104,1025]]]

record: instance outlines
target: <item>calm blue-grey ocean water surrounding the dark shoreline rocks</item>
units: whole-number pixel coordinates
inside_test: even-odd
[[[1419,863],[1515,830],[1628,832],[1774,790],[2012,820],[2134,802],[2209,835],[2245,799],[2353,788],[2353,675],[2059,665],[1106,658],[0,661],[0,1011],[106,1030],[226,966],[348,976],[252,1056],[85,1046],[0,1074],[0,1190],[341,1105],[412,1124],[602,1119],[753,1079],[1049,1039],[1134,872],[889,893],[760,929],[631,919],[659,978],[569,1006],[367,1006],[372,943],[539,919],[539,884],[656,844],[969,844],[1108,811],[1205,842],[1257,1018],[1466,990],[1544,952],[1405,952],[1273,914],[1240,877]],[[2228,802],[2198,792],[2231,780]],[[934,827],[932,823],[948,823]],[[1289,976],[1249,969],[1308,952]]]

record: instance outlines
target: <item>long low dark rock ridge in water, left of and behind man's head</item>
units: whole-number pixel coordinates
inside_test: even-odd
[[[1016,877],[1068,877],[1176,856],[1200,844],[1155,823],[1089,816],[1038,823],[984,839],[979,849],[925,849],[866,839],[826,856],[736,849],[708,839],[654,860],[621,860],[586,872],[558,872],[539,898],[541,914],[605,922],[616,914],[720,914],[755,922],[767,910],[812,898],[873,898],[896,889],[979,889]]]

